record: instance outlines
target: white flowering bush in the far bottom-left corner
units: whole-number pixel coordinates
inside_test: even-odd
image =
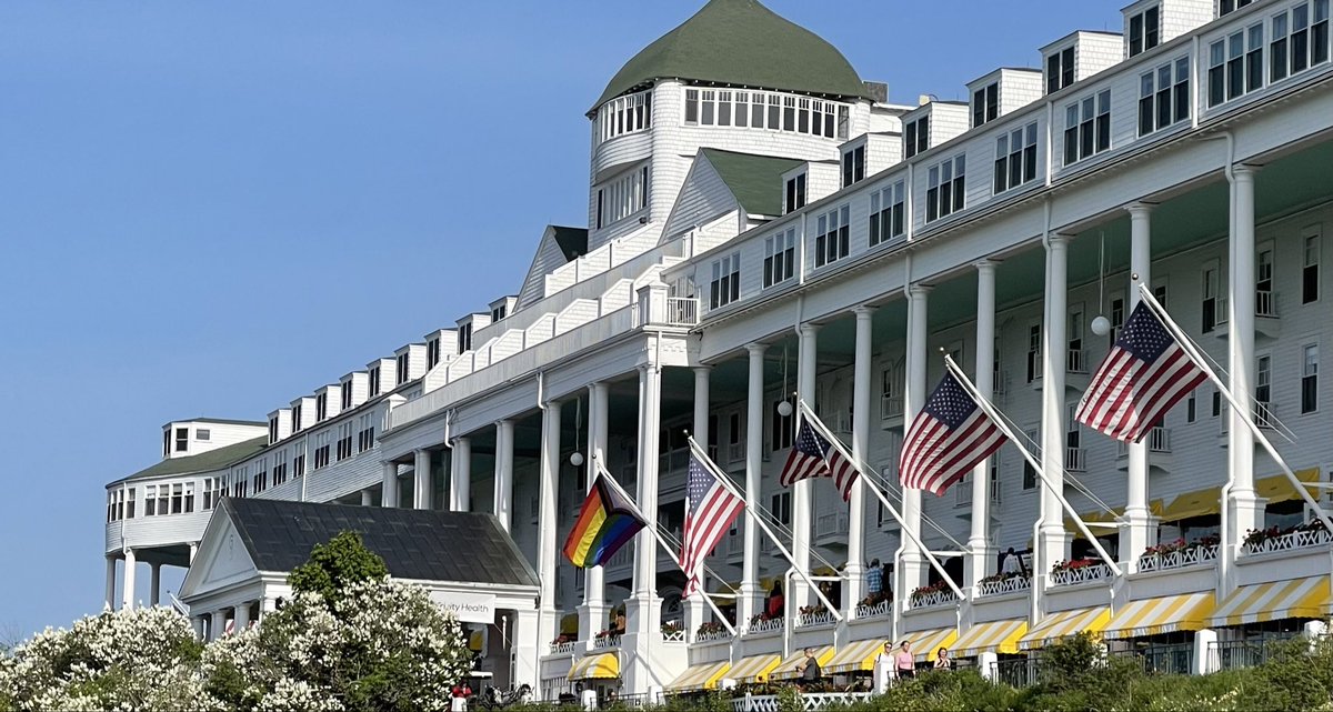
[[[48,628],[0,659],[0,709],[221,709],[204,692],[201,648],[167,608]]]

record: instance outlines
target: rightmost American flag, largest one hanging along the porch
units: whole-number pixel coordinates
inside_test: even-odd
[[[1161,319],[1140,301],[1097,368],[1074,419],[1116,440],[1137,443],[1206,379]]]

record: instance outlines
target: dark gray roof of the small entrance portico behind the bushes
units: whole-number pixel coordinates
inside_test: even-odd
[[[259,571],[292,571],[344,531],[361,533],[397,579],[536,587],[495,515],[225,497],[223,511]]]

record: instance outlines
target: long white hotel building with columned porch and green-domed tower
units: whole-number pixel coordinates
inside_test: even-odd
[[[762,681],[804,645],[861,671],[884,639],[1017,677],[1029,651],[1082,628],[1158,668],[1216,669],[1313,628],[1330,613],[1329,533],[1282,533],[1312,513],[1212,385],[1142,445],[1070,413],[1137,273],[1330,503],[1329,0],[1122,15],[1122,35],[1072,32],[1038,69],[977,77],[969,103],[897,105],[808,31],[712,0],[592,104],[588,225],[547,227],[524,283],[497,287],[508,296],[275,399],[267,424],[168,424],[164,460],[107,487],[108,603],[117,560],[124,591],[136,561],[155,583],[188,565],[232,496],[493,512],[540,579],[535,608],[508,619],[497,679],[548,697],[575,680],[623,695]],[[938,576],[860,487],[849,508],[828,480],[778,485],[792,419],[777,405],[793,392],[896,480],[941,349],[1032,439],[1120,575],[1052,573],[1089,545],[1012,444],[944,497],[892,488],[962,600],[910,595]],[[605,568],[563,560],[593,457],[681,527],[686,429],[750,508],[789,525],[798,561],[845,563],[840,616],[800,613],[810,592],[744,521],[708,583],[738,591],[717,599],[737,636],[697,633],[712,613],[680,601],[680,572],[645,536]],[[1266,527],[1278,533],[1246,540]],[[1145,555],[1177,537],[1206,543]],[[1010,547],[1033,551],[1034,577],[994,577]],[[897,563],[892,604],[858,605],[872,559]],[[752,623],[773,581],[790,587],[786,613]],[[192,615],[252,620],[271,603],[209,600]],[[620,607],[624,635],[599,637]],[[684,635],[663,632],[680,619]]]

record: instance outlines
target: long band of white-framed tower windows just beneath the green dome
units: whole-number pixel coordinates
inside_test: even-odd
[[[777,92],[685,89],[685,124],[766,128],[825,139],[846,139],[850,107]]]

